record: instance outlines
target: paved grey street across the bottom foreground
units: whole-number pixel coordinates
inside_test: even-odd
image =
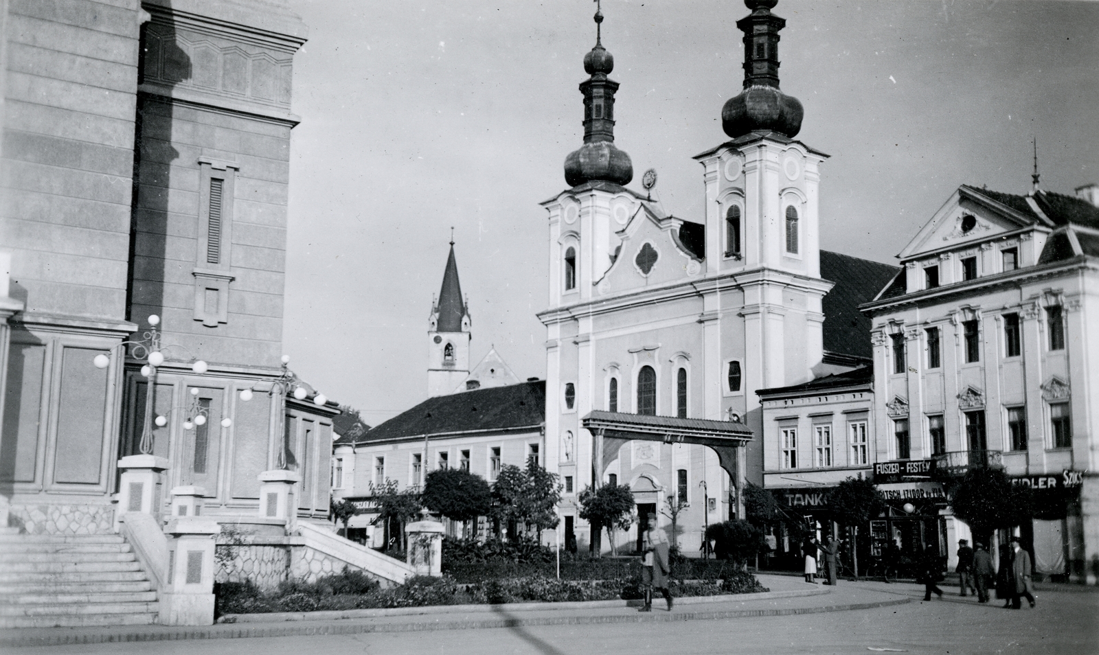
[[[223,653],[440,654],[491,653],[590,655],[613,654],[755,654],[768,653],[1099,653],[1099,593],[1040,591],[1034,610],[1003,610],[999,602],[977,604],[957,598],[946,587],[945,600],[922,602],[915,585],[841,582],[818,604],[880,599],[882,595],[914,598],[908,604],[787,617],[667,621],[663,611],[641,615],[641,622],[581,625],[528,625],[480,630],[365,633],[273,639],[222,639],[135,644],[95,644],[19,648],[19,653],[98,654],[157,653],[158,655]],[[707,606],[685,606],[691,612]],[[633,615],[632,609],[619,609]],[[523,612],[506,615],[522,618]],[[575,610],[584,617],[584,610]]]

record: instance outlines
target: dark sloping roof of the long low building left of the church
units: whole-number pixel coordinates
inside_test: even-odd
[[[342,437],[336,444],[540,425],[545,421],[545,380],[476,389],[429,398],[377,425],[364,436],[357,440]]]

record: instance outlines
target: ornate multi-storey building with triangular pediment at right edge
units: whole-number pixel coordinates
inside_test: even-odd
[[[1089,584],[1099,575],[1097,200],[1095,185],[1074,198],[1039,189],[1037,175],[1025,196],[962,186],[900,253],[903,274],[865,306],[876,459],[941,475],[1003,468],[1035,490],[1035,515],[1019,530],[1036,571]],[[968,535],[939,513],[944,543]]]

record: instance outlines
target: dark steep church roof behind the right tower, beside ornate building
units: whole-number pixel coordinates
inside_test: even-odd
[[[821,277],[835,282],[824,296],[824,349],[873,356],[870,319],[858,306],[874,300],[900,269],[888,264],[821,251]]]

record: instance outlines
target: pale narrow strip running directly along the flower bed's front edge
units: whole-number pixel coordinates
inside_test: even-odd
[[[829,593],[828,589],[806,589],[790,591],[759,591],[756,593],[726,593],[722,596],[685,596],[676,599],[676,604],[703,604],[710,602],[737,602],[767,600],[771,598],[801,598]],[[409,617],[418,614],[490,613],[507,609],[509,612],[536,610],[586,610],[600,608],[637,607],[636,600],[587,600],[566,602],[512,602],[499,604],[451,604],[414,608],[376,608],[365,610],[322,610],[317,612],[266,612],[259,614],[224,614],[218,619],[219,625],[241,623],[279,623],[282,621],[335,621],[340,619],[376,619],[380,617]]]

